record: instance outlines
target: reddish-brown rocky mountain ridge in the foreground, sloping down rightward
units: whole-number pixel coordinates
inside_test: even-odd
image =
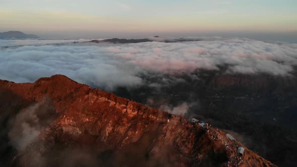
[[[240,156],[237,146],[242,144],[230,141],[217,128],[207,130],[63,75],[40,78],[32,84],[0,80],[0,93],[1,126],[5,129],[1,162],[6,166],[272,165],[247,148]],[[44,114],[33,115],[30,121],[38,127],[39,135],[22,149],[14,147],[7,137],[17,126],[11,120],[26,116],[25,111],[43,103],[47,105],[42,110],[55,114],[45,118]],[[40,126],[43,122],[48,124]],[[30,124],[26,119],[25,123]],[[23,127],[19,133],[27,130]]]

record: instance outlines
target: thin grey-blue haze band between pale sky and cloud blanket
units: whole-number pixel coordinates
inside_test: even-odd
[[[10,31],[21,31],[26,34],[34,34],[41,38],[52,39],[106,39],[106,38],[147,38],[153,36],[185,38],[185,37],[227,37],[227,38],[248,38],[260,41],[282,41],[297,43],[297,31],[269,32],[269,31],[181,31],[181,32],[104,32],[104,31],[23,31],[11,29]],[[7,32],[1,30],[0,32]]]

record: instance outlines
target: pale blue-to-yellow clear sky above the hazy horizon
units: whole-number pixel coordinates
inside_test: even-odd
[[[296,0],[0,0],[0,32],[296,32]]]

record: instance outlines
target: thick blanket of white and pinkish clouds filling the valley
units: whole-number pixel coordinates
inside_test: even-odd
[[[0,40],[0,78],[32,82],[64,74],[91,86],[112,89],[144,84],[140,75],[147,73],[176,75],[228,65],[228,73],[289,75],[297,64],[297,44],[220,37],[175,43],[158,40],[164,39],[136,44]]]

